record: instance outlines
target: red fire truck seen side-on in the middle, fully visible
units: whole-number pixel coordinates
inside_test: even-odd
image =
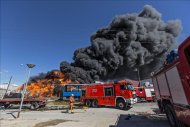
[[[82,88],[81,101],[89,107],[116,106],[125,109],[134,104],[136,93],[132,82],[97,83]]]

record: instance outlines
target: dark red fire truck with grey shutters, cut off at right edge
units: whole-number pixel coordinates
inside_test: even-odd
[[[190,126],[190,37],[178,48],[178,57],[152,74],[158,106],[172,127]]]

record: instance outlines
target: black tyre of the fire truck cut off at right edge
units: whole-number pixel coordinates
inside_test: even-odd
[[[165,105],[165,112],[171,127],[178,127],[178,120],[173,107],[170,104]]]

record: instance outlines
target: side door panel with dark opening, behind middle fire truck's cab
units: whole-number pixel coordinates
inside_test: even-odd
[[[113,93],[113,87],[105,87],[104,88],[104,104],[107,106],[115,105],[115,97]]]

